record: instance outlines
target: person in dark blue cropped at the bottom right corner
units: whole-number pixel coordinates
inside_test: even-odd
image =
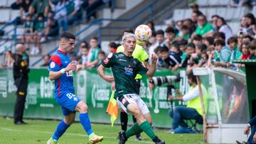
[[[248,123],[247,123],[247,126],[245,127],[245,130],[244,130],[244,134],[245,135],[249,135],[250,134],[250,128],[252,128],[252,131],[251,131],[251,135],[250,137],[248,138],[247,140],[247,144],[252,144],[252,143],[256,143],[256,116],[253,117]],[[244,144],[245,142],[238,142],[238,144]]]

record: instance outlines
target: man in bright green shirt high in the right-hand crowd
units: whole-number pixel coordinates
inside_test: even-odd
[[[198,16],[198,26],[196,27],[196,34],[207,36],[213,32],[212,26],[207,22],[206,16],[199,15]]]

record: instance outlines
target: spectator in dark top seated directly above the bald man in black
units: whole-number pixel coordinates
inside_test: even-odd
[[[26,16],[26,21],[23,24],[23,43],[29,45],[33,41],[33,21],[32,15]],[[27,46],[28,48],[29,46]]]

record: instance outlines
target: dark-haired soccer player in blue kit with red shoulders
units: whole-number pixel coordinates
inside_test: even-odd
[[[95,135],[92,131],[90,119],[87,113],[87,105],[75,96],[73,86],[73,70],[76,70],[76,63],[71,62],[67,53],[75,48],[75,36],[72,33],[64,32],[60,36],[60,46],[52,57],[50,57],[49,79],[55,80],[55,100],[60,104],[65,116],[63,121],[58,123],[56,131],[47,141],[47,144],[58,143],[58,139],[75,121],[75,111],[78,111],[80,123],[89,135],[90,144],[103,140],[102,136]]]

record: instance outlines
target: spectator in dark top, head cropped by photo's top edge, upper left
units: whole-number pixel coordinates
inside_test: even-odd
[[[28,13],[36,14],[43,13],[43,16],[48,16],[49,4],[48,0],[33,0],[31,6],[29,7]]]

